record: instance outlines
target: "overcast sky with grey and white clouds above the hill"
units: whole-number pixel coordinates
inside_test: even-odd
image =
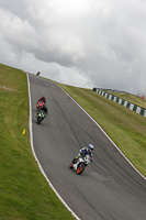
[[[0,0],[0,63],[146,94],[146,0]]]

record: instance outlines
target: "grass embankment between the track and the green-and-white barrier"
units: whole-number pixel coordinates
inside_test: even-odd
[[[59,86],[102,127],[134,166],[146,176],[146,118],[90,89]]]

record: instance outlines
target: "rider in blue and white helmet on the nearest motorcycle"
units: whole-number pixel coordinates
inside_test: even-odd
[[[83,147],[83,148],[80,148],[79,153],[78,153],[78,156],[76,156],[74,160],[72,160],[72,164],[76,164],[78,158],[79,157],[85,157],[87,154],[90,155],[91,157],[91,162],[92,162],[92,152],[93,152],[93,148],[94,146],[92,144],[89,144],[88,147]]]

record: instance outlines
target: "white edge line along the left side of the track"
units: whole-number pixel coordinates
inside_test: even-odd
[[[79,217],[69,208],[69,206],[64,201],[64,199],[60,197],[60,195],[57,193],[57,190],[54,188],[54,186],[52,185],[52,183],[49,182],[49,179],[47,178],[43,167],[41,166],[41,163],[35,154],[35,151],[34,151],[34,145],[33,145],[33,132],[32,132],[32,101],[31,101],[31,89],[30,89],[30,80],[29,80],[29,74],[26,73],[27,75],[27,88],[29,88],[29,99],[30,99],[30,141],[31,141],[31,147],[32,147],[32,152],[33,152],[33,155],[35,157],[35,161],[37,162],[38,164],[38,167],[42,172],[42,174],[44,175],[44,177],[46,178],[48,185],[52,187],[52,189],[54,190],[54,193],[56,194],[56,196],[59,198],[59,200],[64,204],[64,206],[71,212],[71,215],[77,219],[77,220],[80,220]]]

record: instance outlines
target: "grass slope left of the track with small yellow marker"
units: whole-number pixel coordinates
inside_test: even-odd
[[[0,219],[75,219],[48,186],[32,154],[26,74],[1,64]]]

